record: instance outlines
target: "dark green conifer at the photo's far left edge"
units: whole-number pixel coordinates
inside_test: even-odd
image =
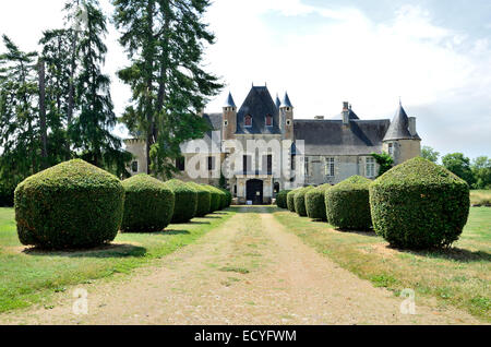
[[[40,168],[36,52],[22,51],[3,35],[0,56],[0,179],[15,187]]]

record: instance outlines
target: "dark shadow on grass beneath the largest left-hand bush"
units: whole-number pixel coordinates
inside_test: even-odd
[[[141,246],[129,243],[109,243],[86,250],[64,250],[52,251],[37,247],[26,248],[22,251],[27,255],[36,256],[65,256],[65,258],[142,258],[146,254],[146,249]]]

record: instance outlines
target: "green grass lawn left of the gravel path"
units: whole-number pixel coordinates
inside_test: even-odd
[[[13,208],[0,208],[0,312],[49,301],[65,286],[129,273],[192,243],[230,218],[223,211],[164,232],[119,234],[112,244],[89,251],[25,250],[17,239]]]

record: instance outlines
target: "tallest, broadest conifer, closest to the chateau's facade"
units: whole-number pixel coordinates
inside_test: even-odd
[[[148,172],[176,172],[179,145],[208,130],[199,117],[221,88],[202,69],[204,45],[214,35],[202,22],[208,0],[113,0],[113,20],[131,65],[119,77],[133,91],[122,121],[144,136]]]

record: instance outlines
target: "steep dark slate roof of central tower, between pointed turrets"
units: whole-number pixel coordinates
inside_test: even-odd
[[[252,116],[252,128],[244,127],[244,117]],[[266,127],[266,116],[273,116],[273,127]],[[237,134],[279,134],[279,110],[266,86],[253,86],[237,112]]]

